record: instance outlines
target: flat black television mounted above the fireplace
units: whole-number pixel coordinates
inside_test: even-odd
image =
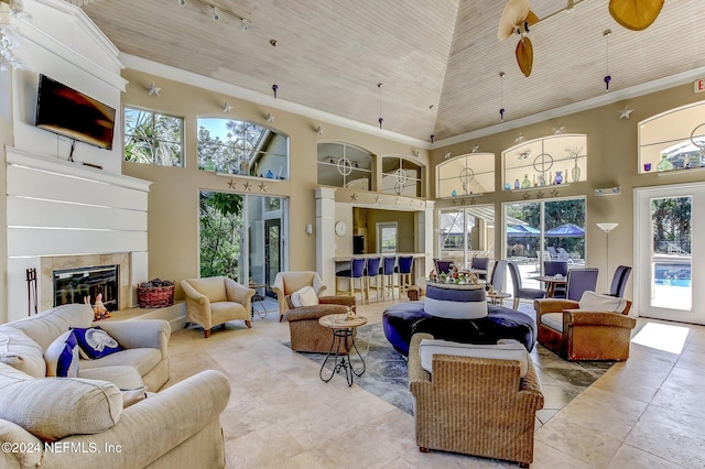
[[[35,126],[110,150],[115,130],[115,109],[45,75],[40,75]]]

